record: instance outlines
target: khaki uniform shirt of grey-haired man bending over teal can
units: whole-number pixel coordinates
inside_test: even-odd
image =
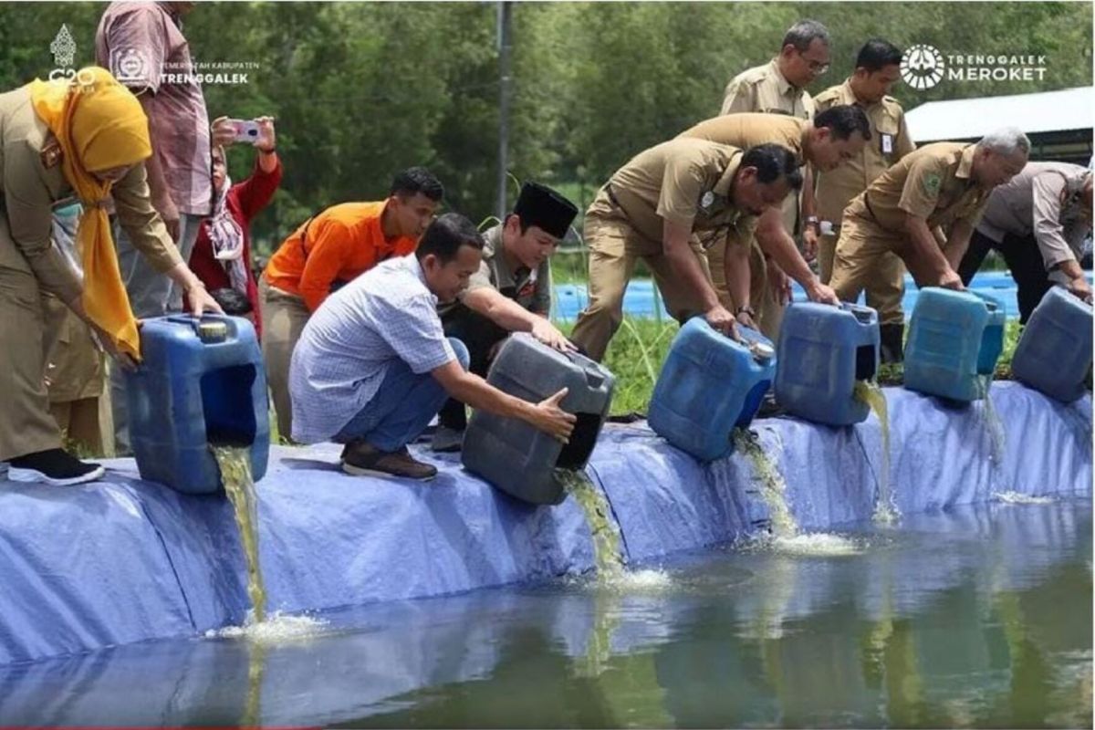
[[[907,154],[857,195],[845,215],[901,236],[906,215],[925,218],[929,229],[944,231],[958,221],[977,224],[992,190],[970,178],[976,149],[976,144],[937,142]]]

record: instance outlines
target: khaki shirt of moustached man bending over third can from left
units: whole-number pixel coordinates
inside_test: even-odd
[[[671,139],[637,155],[601,188],[589,212],[612,217],[616,210],[636,233],[661,242],[662,222],[696,233],[724,231],[752,235],[757,217],[734,207],[730,186],[741,150],[703,139]]]

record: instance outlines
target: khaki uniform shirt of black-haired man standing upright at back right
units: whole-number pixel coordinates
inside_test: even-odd
[[[857,104],[848,81],[826,89],[814,102],[818,112],[839,104]],[[917,149],[904,123],[904,111],[896,99],[884,96],[880,102],[863,106],[863,111],[871,121],[872,135],[871,141],[863,146],[863,152],[832,172],[815,173],[818,218],[830,221],[834,228],[840,227],[844,208],[855,196]]]

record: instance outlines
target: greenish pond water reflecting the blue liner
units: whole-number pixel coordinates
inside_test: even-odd
[[[1090,501],[0,668],[2,725],[1092,727]],[[819,545],[816,554],[811,545]]]

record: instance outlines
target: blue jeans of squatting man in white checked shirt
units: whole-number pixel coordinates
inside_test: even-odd
[[[468,370],[468,348],[453,337],[449,337],[449,345],[460,367]],[[397,360],[388,367],[372,399],[332,441],[347,443],[365,439],[381,451],[399,451],[426,430],[448,398],[449,394],[431,374],[414,373],[406,362]]]

